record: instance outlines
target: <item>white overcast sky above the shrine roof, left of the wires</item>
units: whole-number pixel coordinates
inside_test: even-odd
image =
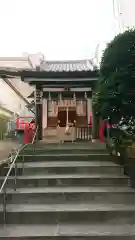
[[[0,57],[91,58],[114,36],[112,0],[0,0],[0,30]]]

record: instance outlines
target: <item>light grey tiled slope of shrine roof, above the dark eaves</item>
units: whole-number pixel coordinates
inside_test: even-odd
[[[41,71],[46,72],[82,72],[93,71],[94,66],[91,60],[77,61],[44,61],[40,65]]]

